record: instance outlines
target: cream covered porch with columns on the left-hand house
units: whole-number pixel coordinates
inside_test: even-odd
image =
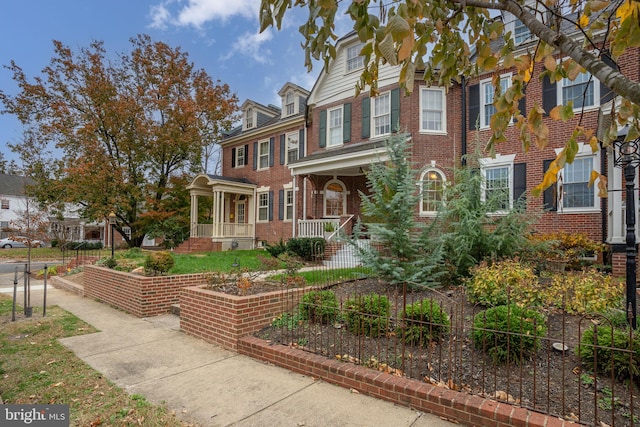
[[[202,174],[187,189],[191,197],[190,239],[207,239],[212,250],[255,247],[255,184]]]

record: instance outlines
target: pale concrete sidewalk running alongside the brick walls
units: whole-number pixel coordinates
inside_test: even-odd
[[[174,315],[139,319],[58,289],[47,302],[100,330],[61,340],[78,357],[201,426],[454,425],[205,343],[181,332]]]

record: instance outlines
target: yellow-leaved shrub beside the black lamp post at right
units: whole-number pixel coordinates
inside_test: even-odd
[[[619,306],[624,286],[595,269],[558,274],[545,290],[546,303],[568,313],[601,313]],[[622,304],[624,306],[624,304]]]

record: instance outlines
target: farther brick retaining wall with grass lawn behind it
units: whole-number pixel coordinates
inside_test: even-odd
[[[202,274],[145,277],[104,267],[84,268],[84,296],[95,298],[138,317],[171,311],[180,289],[204,283]]]

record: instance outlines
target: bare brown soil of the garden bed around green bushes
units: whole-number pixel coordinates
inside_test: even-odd
[[[362,280],[330,289],[341,308],[354,295],[386,295],[392,305],[389,330],[370,338],[351,333],[344,321],[319,324],[298,320],[289,326],[267,327],[256,335],[346,363],[508,401],[587,425],[640,425],[637,386],[632,385],[630,390],[628,382],[596,377],[581,366],[575,349],[580,335],[592,325],[591,319],[538,308],[546,315],[548,332],[535,356],[519,364],[495,365],[470,340],[473,317],[485,308],[466,301],[459,288],[413,290],[405,297],[401,289]],[[403,345],[395,333],[402,307],[426,298],[434,299],[447,311],[451,333],[440,342]],[[289,312],[294,313],[296,308],[290,307]],[[554,344],[564,344],[567,350],[556,350]]]

